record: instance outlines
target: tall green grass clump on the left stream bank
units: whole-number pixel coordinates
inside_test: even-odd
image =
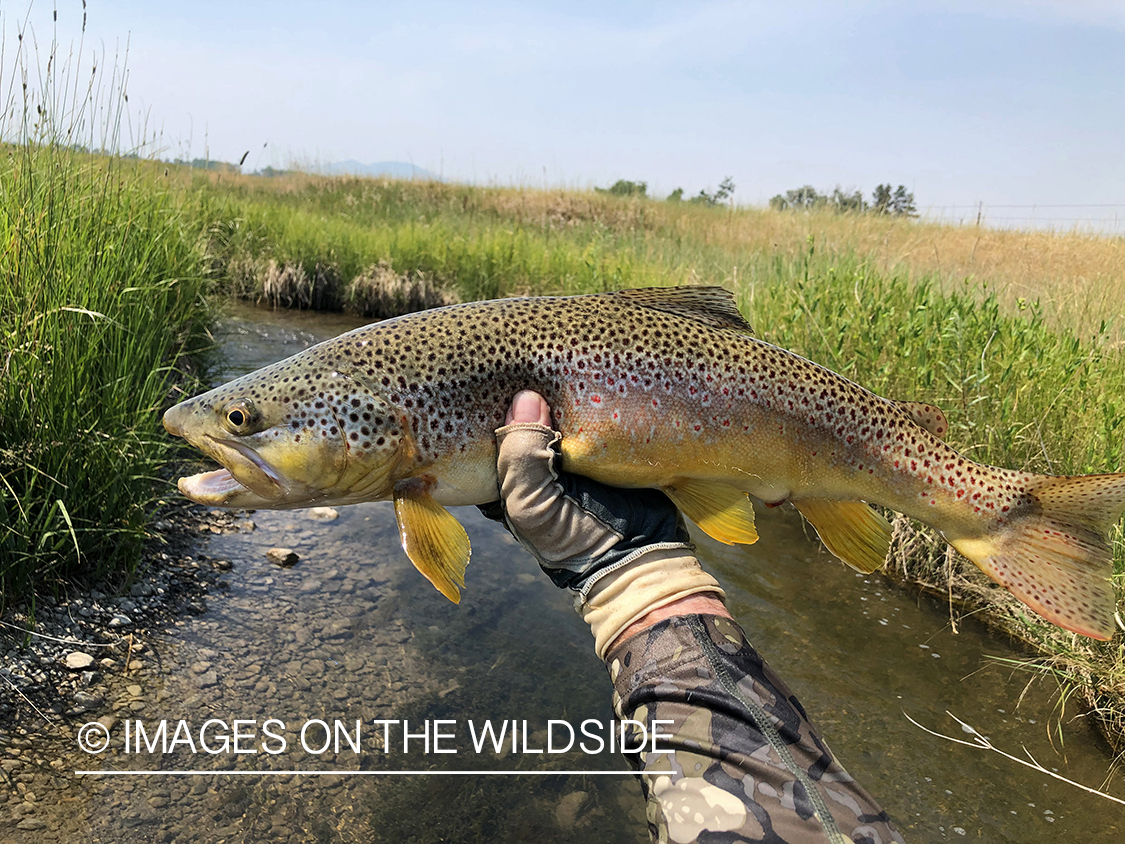
[[[199,237],[119,149],[116,65],[4,68],[0,149],[0,603],[137,560],[170,448],[159,410],[204,329]],[[106,63],[102,62],[102,65]]]

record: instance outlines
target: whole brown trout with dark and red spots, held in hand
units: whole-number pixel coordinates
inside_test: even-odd
[[[1107,531],[1125,474],[1054,477],[973,463],[936,407],[881,398],[752,335],[721,288],[498,299],[368,325],[183,402],[164,427],[224,468],[181,478],[213,506],[393,500],[410,559],[447,598],[469,540],[443,505],[495,501],[512,397],[541,393],[562,467],[656,487],[721,542],[757,539],[748,495],[792,502],[862,572],[890,526],[942,531],[1036,612],[1108,639]]]

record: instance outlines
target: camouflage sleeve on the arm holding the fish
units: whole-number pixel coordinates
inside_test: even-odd
[[[655,842],[889,844],[886,812],[832,756],[785,683],[728,618],[683,616],[615,644],[618,717],[657,749],[629,756]],[[670,724],[667,724],[670,721]],[[629,727],[629,725],[627,725]],[[627,729],[629,746],[644,742]]]

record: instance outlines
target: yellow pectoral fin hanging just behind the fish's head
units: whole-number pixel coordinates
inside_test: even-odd
[[[441,594],[461,602],[469,564],[469,536],[461,523],[416,481],[395,484],[395,520],[403,550]]]

